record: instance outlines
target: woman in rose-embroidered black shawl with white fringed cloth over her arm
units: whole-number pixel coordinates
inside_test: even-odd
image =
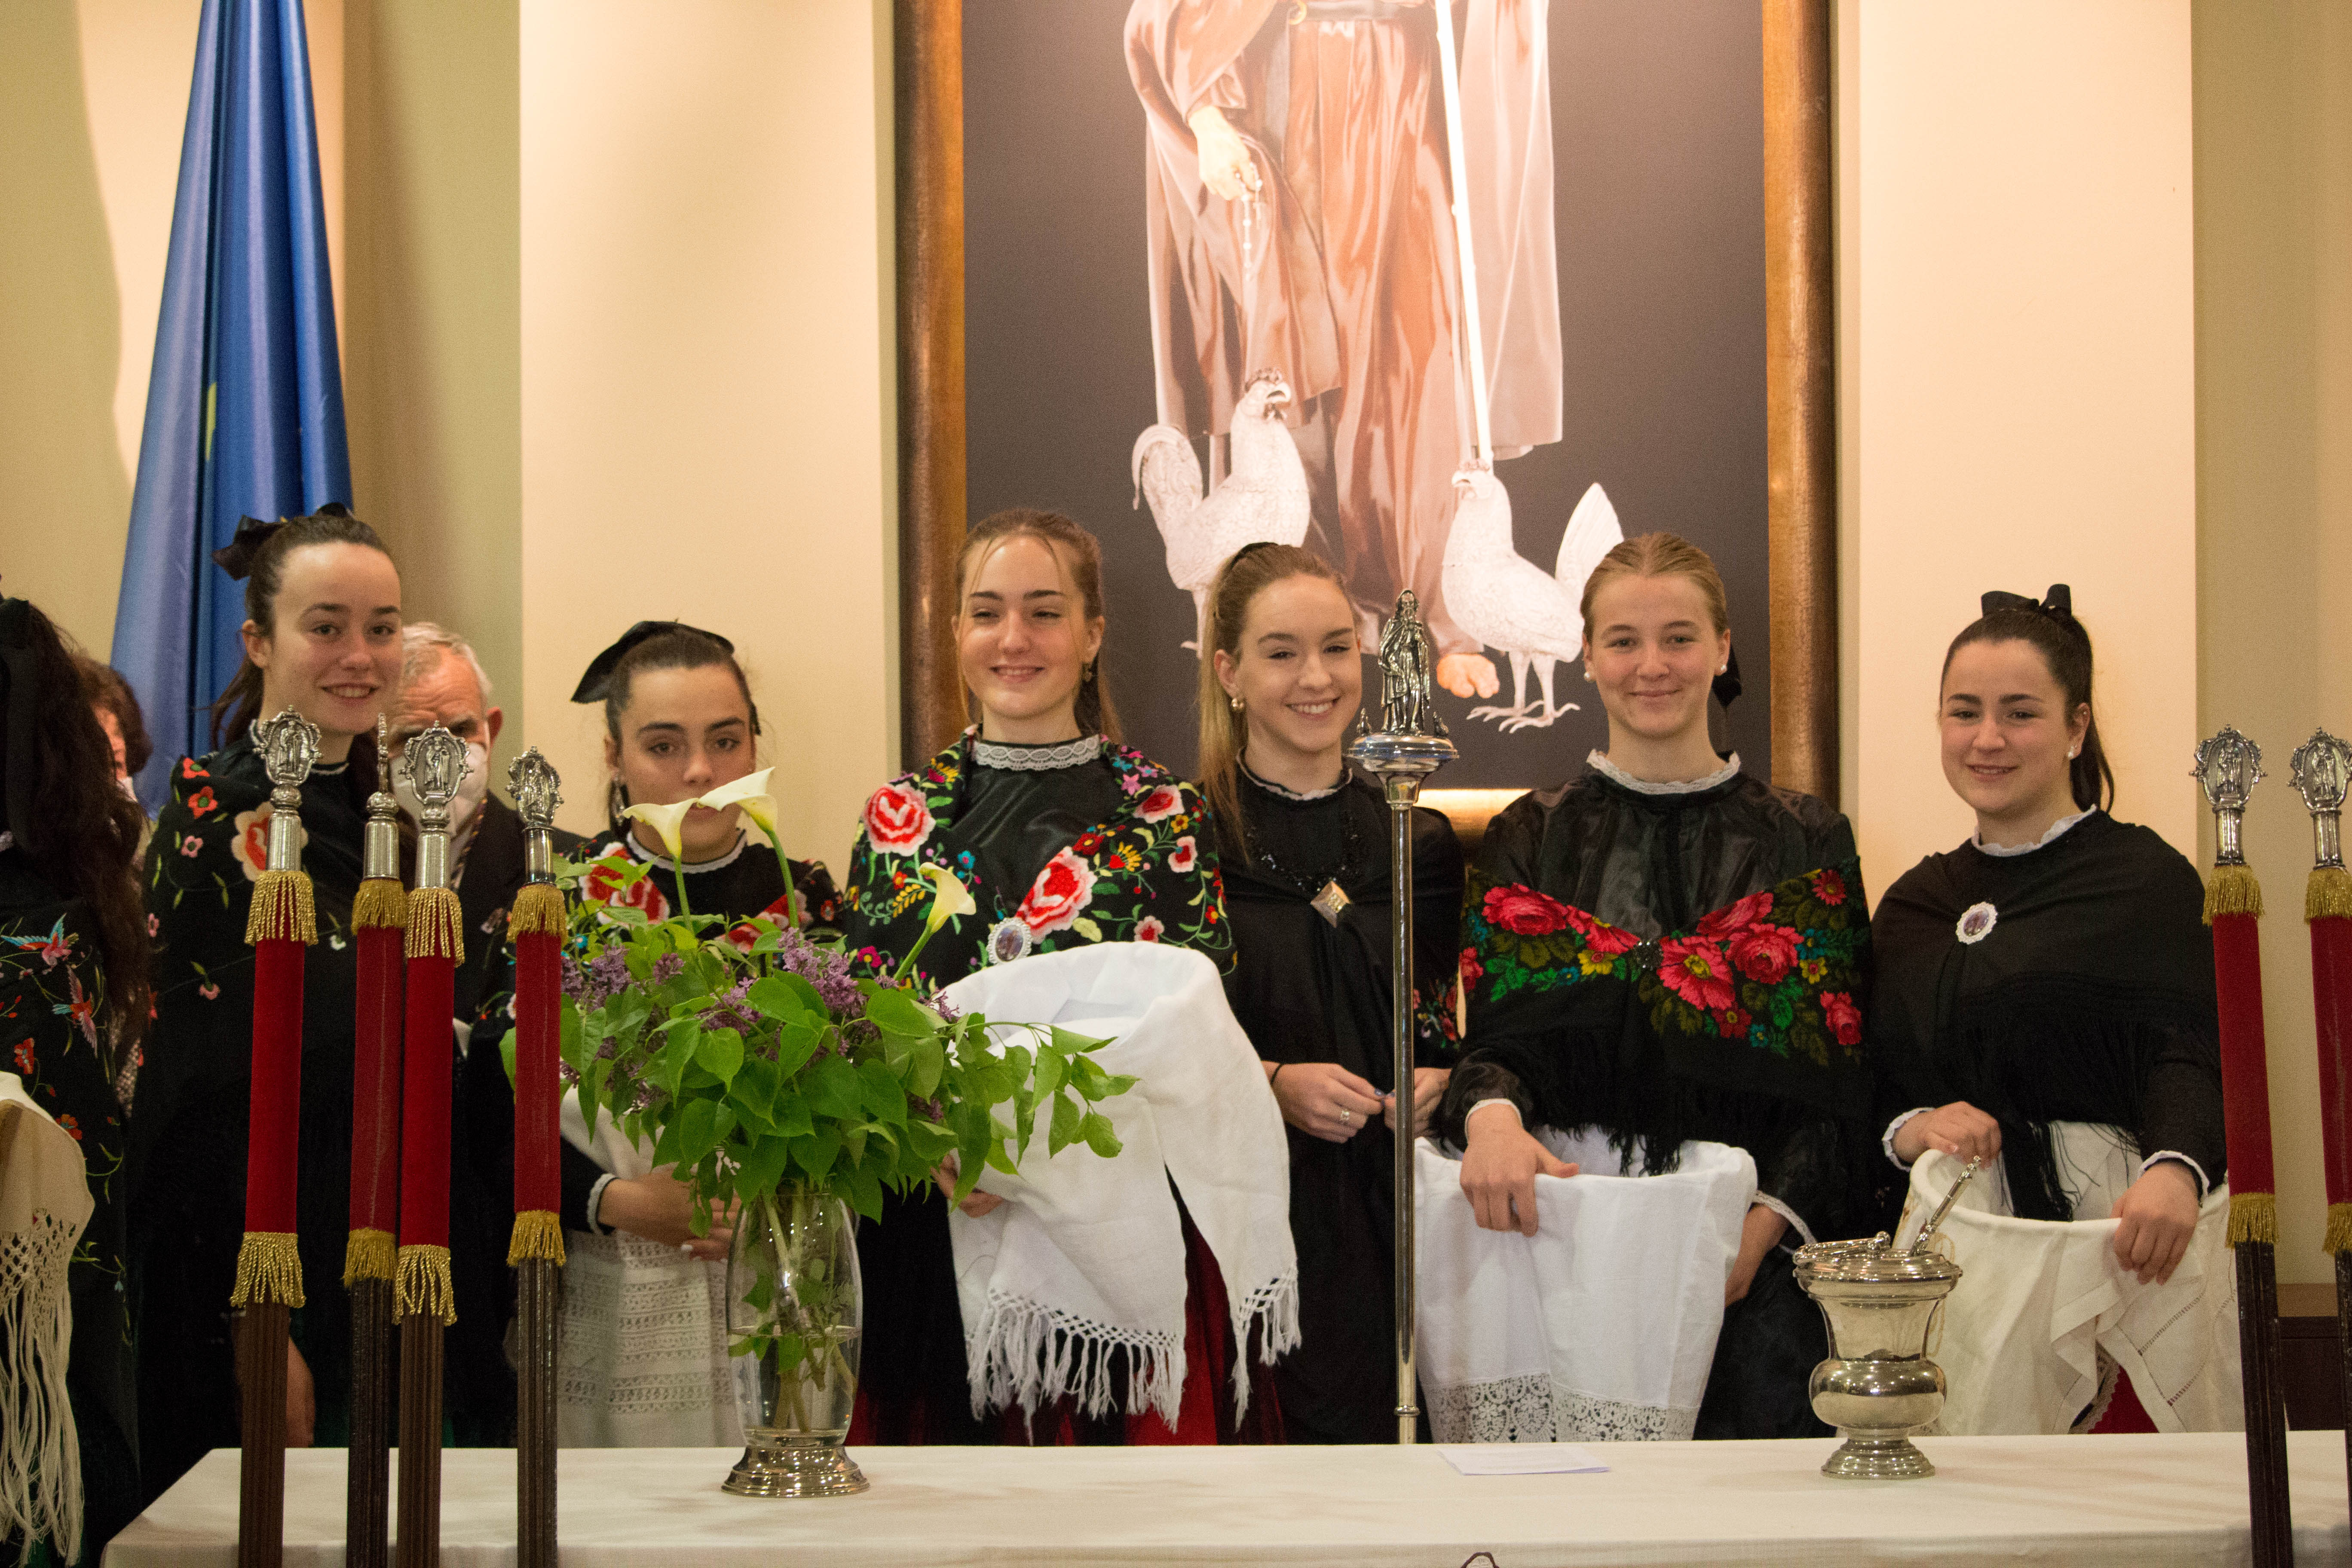
[[[927,867],[978,905],[922,950],[920,985],[1084,943],[1178,943],[1232,961],[1216,842],[1192,785],[1120,745],[1103,684],[1103,555],[1058,512],[997,512],[964,538],[955,646],[976,724],[866,802],[849,856],[844,929],[863,964],[891,971],[929,910]],[[1000,1199],[971,1194],[967,1213]],[[1190,1227],[1188,1227],[1190,1229]],[[1192,1246],[1195,1265],[1214,1260]],[[938,1192],[887,1194],[858,1227],[866,1371],[851,1443],[1127,1441],[1120,1418],[1040,1413],[1033,1427],[978,1420],[964,1380],[948,1211]],[[1218,1300],[1204,1309],[1204,1295]],[[1188,1326],[1223,1338],[1221,1284],[1188,1295]],[[1192,1319],[1200,1319],[1192,1324]],[[1190,1359],[1181,1441],[1232,1436],[1232,1347]],[[1200,1385],[1200,1387],[1195,1387]],[[1251,1396],[1263,1420],[1272,1401]],[[1195,1408],[1197,1406],[1197,1408]],[[1178,1441],[1157,1415],[1134,1441]],[[1155,1432],[1152,1432],[1155,1429]]]

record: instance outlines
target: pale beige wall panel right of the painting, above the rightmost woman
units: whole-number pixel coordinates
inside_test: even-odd
[[[2070,583],[2117,813],[2183,851],[2197,715],[2187,0],[1849,0],[1839,59],[1846,809],[1884,889],[1971,830],[1936,672]]]

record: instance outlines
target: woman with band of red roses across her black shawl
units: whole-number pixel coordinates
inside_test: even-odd
[[[1820,1434],[1820,1328],[1790,1246],[1849,1234],[1867,1182],[1853,830],[1708,743],[1708,696],[1736,686],[1703,550],[1628,538],[1588,578],[1583,621],[1609,750],[1486,830],[1465,905],[1470,1027],[1437,1126],[1465,1145],[1479,1225],[1526,1234],[1536,1175],[1576,1173],[1538,1126],[1604,1131],[1644,1171],[1691,1138],[1748,1150],[1757,1201],[1726,1260],[1705,1403],[1623,1425]],[[1588,1436],[1616,1420],[1599,1410]]]

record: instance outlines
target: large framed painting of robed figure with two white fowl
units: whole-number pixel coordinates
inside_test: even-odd
[[[1035,505],[1103,541],[1103,675],[1178,771],[1230,548],[1319,552],[1367,649],[1414,588],[1477,818],[1606,745],[1583,574],[1665,529],[1729,588],[1717,743],[1835,797],[1825,0],[1442,14],[901,2],[908,762],[962,724],[962,529]]]

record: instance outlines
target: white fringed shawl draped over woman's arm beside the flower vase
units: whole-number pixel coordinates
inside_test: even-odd
[[[1098,943],[983,969],[946,999],[993,1023],[1108,1037],[1094,1060],[1138,1079],[1098,1105],[1124,1145],[1117,1159],[1087,1145],[1047,1159],[1040,1105],[1021,1173],[981,1175],[1007,1201],[978,1220],[948,1215],[974,1413],[1018,1403],[1035,1415],[1075,1396],[1101,1415],[1124,1361],[1129,1413],[1176,1425],[1185,1255],[1169,1180],[1225,1276],[1244,1410],[1251,1326],[1268,1366],[1298,1345],[1298,1255],[1282,1112],[1216,964],[1183,947]]]

